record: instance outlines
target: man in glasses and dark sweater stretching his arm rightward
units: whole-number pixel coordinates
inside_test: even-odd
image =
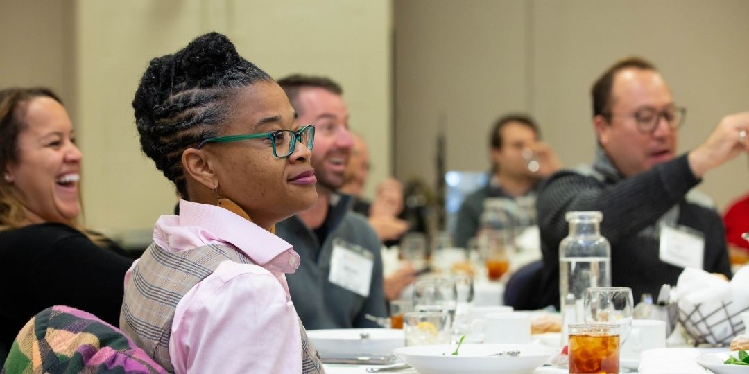
[[[539,306],[559,306],[559,245],[571,211],[603,212],[612,283],[631,287],[635,300],[676,284],[687,266],[730,277],[721,218],[693,188],[707,171],[749,150],[749,112],[724,117],[705,143],[678,156],[676,135],[686,111],[648,61],[617,62],[591,93],[594,162],[552,175],[539,191],[545,267]]]

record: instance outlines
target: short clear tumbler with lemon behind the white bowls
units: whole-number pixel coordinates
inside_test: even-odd
[[[409,312],[403,317],[406,346],[450,343],[450,316],[445,312]]]

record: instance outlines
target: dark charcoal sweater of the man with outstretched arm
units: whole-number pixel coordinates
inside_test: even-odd
[[[559,245],[567,236],[565,212],[603,212],[601,235],[611,243],[611,282],[631,287],[636,301],[676,284],[682,268],[658,258],[660,224],[683,225],[705,236],[704,269],[730,278],[724,228],[706,198],[691,191],[700,183],[682,155],[649,171],[624,178],[598,148],[592,168],[560,171],[539,191],[537,202],[544,255],[539,307],[559,307]]]

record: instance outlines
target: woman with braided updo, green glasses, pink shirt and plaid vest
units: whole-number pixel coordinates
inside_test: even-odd
[[[175,373],[324,372],[288,293],[300,257],[274,235],[317,201],[314,126],[216,33],[151,60],[133,108],[182,200],[127,272],[122,330]]]

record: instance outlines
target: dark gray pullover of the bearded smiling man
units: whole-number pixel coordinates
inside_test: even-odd
[[[276,224],[276,235],[294,245],[301,257],[299,269],[287,275],[291,301],[308,330],[320,328],[376,328],[366,314],[387,316],[383,292],[380,239],[363,215],[351,212],[351,197],[336,195],[339,201],[327,217],[329,233],[325,242],[297,216]],[[358,245],[374,255],[372,281],[366,298],[328,281],[333,240]]]

